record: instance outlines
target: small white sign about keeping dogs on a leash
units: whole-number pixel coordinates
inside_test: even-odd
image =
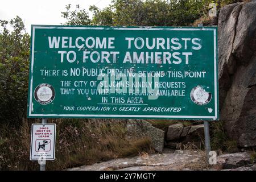
[[[30,160],[54,160],[56,124],[32,124]]]

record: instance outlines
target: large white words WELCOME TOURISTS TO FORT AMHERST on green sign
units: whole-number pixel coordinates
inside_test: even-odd
[[[89,36],[83,38],[79,36],[75,39],[67,36],[49,36],[49,48],[77,48],[82,49],[82,57],[77,57],[75,51],[58,50],[60,63],[76,63],[77,59],[82,63],[91,61],[92,63],[117,63],[119,51],[97,51],[97,49],[114,49],[115,38],[94,38]],[[202,48],[199,38],[125,38],[127,49],[136,49],[137,51],[125,53],[122,63],[135,64],[189,64],[192,52],[187,50],[200,50]],[[141,49],[166,50],[164,52],[138,52]],[[94,50],[96,49],[96,50]],[[173,52],[180,51],[180,52]],[[185,60],[185,61],[182,61]]]

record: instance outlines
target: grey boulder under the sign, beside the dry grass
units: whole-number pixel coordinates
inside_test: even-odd
[[[164,147],[164,131],[152,126],[151,123],[141,119],[129,119],[127,121],[127,137],[149,137],[155,151],[162,152]]]

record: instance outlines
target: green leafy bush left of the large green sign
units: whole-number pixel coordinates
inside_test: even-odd
[[[30,36],[19,16],[0,20],[0,123],[19,125],[26,115]],[[7,26],[13,31],[7,30]]]

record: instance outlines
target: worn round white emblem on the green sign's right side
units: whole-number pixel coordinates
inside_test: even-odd
[[[212,93],[206,92],[198,85],[191,90],[190,98],[197,105],[206,105],[212,99]]]

